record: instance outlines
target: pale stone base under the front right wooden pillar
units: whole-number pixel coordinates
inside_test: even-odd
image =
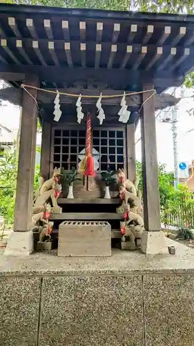
[[[159,230],[147,231],[142,234],[141,249],[146,255],[158,255],[168,253],[168,246],[164,233]]]

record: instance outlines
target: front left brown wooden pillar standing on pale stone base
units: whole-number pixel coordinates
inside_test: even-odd
[[[35,75],[26,75],[25,83],[39,86]],[[37,91],[28,89],[33,98]],[[37,105],[26,91],[23,91],[21,134],[19,140],[19,164],[17,174],[17,192],[14,209],[14,231],[30,229],[35,176],[35,156],[37,140]]]

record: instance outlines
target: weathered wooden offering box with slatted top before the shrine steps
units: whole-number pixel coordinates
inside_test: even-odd
[[[110,224],[106,221],[62,222],[58,256],[111,256]]]

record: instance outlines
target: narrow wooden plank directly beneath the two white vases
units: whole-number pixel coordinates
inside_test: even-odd
[[[120,204],[120,199],[88,199],[88,198],[75,198],[75,199],[66,199],[66,198],[59,198],[57,199],[58,204]]]

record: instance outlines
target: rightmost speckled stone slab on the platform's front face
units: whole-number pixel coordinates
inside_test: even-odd
[[[147,346],[194,345],[193,275],[144,276]]]

